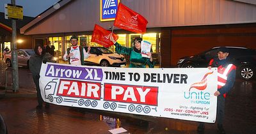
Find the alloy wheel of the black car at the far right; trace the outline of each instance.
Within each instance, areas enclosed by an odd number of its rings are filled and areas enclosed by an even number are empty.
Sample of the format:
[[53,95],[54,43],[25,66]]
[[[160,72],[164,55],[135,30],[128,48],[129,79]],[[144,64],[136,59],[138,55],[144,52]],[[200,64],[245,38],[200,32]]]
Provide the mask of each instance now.
[[239,73],[244,80],[252,80],[255,75],[255,71],[250,66],[241,66]]

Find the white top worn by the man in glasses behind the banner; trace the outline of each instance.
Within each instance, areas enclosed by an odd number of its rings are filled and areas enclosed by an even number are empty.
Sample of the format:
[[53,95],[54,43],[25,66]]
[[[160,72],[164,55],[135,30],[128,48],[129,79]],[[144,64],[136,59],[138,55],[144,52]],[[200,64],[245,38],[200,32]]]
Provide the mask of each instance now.
[[[80,54],[80,50],[79,50],[79,47],[77,48],[73,48],[71,47],[70,48],[70,53],[73,54],[73,56],[70,57],[70,64],[73,64],[73,65],[81,65],[81,54]],[[83,48],[83,53],[84,53],[84,59],[87,59],[89,57],[89,54],[88,52],[86,52],[86,50]],[[67,58],[67,51],[65,52],[64,56],[63,56],[63,60],[64,61],[67,61],[68,58]]]

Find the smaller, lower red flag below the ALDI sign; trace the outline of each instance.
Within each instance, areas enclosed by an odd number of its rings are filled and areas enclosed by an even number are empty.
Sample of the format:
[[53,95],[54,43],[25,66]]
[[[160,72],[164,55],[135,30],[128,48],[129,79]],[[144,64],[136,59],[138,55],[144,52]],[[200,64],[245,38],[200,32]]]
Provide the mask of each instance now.
[[99,43],[104,47],[110,47],[111,45],[114,45],[113,42],[110,40],[111,34],[114,40],[118,39],[118,35],[111,33],[111,31],[108,31],[103,27],[100,27],[99,25],[95,24],[91,42]]

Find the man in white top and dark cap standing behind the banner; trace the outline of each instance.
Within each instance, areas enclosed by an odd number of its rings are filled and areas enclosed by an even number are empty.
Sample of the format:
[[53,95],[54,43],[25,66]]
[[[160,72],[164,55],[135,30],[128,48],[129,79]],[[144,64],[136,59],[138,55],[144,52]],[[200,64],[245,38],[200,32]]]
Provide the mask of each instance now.
[[74,35],[71,36],[70,41],[72,46],[67,48],[63,60],[73,65],[84,65],[84,59],[89,57],[91,47],[88,47],[88,51],[86,52],[83,47],[77,45],[78,38]]

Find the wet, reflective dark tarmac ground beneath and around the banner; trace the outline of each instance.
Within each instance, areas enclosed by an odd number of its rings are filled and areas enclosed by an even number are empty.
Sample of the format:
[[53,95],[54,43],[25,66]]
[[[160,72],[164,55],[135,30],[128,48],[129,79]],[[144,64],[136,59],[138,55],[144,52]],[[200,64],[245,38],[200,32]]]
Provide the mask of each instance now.
[[[3,67],[3,66],[1,66]],[[3,82],[1,73],[0,82]],[[27,68],[19,68],[20,93],[35,91]],[[34,92],[35,93],[35,92]],[[19,94],[19,93],[18,93]],[[224,128],[230,134],[256,134],[256,80],[237,78],[225,103]],[[124,128],[127,133],[196,133],[198,123],[51,105],[36,109],[35,96],[0,98],[0,113],[8,133],[109,133]],[[205,133],[218,133],[216,124],[205,124]]]

